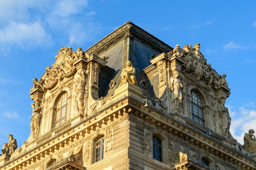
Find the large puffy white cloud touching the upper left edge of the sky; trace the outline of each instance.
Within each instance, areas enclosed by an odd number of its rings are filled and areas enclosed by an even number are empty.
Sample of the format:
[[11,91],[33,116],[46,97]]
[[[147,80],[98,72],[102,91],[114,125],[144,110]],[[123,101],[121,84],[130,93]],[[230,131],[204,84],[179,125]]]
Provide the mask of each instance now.
[[19,45],[22,48],[51,42],[51,36],[39,22],[29,24],[10,22],[9,25],[0,29],[0,37],[1,44]]

